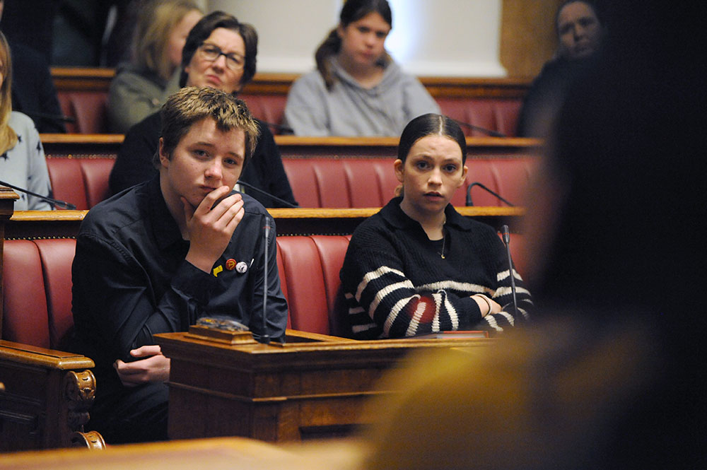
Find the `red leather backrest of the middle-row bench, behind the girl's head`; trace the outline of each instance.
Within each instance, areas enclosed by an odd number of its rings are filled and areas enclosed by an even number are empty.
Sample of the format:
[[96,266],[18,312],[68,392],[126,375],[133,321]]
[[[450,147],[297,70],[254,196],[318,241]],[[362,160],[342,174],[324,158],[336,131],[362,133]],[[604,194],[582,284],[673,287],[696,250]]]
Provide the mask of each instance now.
[[[285,172],[301,207],[381,207],[393,196],[398,181],[393,158],[284,158]],[[457,189],[452,204],[466,204],[467,187],[481,182],[516,205],[536,158],[467,158],[467,180]],[[89,209],[109,195],[108,177],[115,160],[110,157],[47,158],[54,197]],[[474,206],[505,206],[479,187],[472,188]]]

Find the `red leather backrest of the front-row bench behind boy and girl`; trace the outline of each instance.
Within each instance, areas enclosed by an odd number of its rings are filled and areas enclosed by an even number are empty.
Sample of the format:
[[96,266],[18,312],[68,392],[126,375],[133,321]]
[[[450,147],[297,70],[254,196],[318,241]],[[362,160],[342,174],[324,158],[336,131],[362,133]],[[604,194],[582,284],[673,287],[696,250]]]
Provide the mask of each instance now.
[[[288,301],[288,327],[347,336],[339,270],[350,235],[277,237],[277,264]],[[511,252],[525,270],[522,236],[512,234]],[[71,262],[74,239],[6,240],[3,270],[2,339],[62,349],[74,324]]]

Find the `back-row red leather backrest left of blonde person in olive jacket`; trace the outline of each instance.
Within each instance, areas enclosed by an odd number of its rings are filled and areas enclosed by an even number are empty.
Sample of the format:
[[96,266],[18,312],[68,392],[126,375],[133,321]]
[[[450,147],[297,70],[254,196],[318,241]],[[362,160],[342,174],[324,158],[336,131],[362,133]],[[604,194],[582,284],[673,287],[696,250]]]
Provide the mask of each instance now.
[[57,92],[59,105],[67,117],[76,119],[66,122],[66,131],[78,134],[107,134],[108,94],[105,91]]

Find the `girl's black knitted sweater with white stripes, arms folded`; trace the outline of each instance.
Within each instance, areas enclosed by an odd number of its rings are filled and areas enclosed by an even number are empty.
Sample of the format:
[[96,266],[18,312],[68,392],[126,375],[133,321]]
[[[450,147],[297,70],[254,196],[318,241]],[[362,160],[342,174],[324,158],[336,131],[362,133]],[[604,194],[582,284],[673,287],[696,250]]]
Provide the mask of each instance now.
[[[528,318],[530,293],[515,276],[519,318],[513,316],[506,247],[493,228],[445,208],[445,242],[431,241],[392,199],[356,228],[339,276],[349,322],[358,339],[434,331],[484,329],[492,334]],[[440,256],[444,245],[445,259]],[[481,317],[482,293],[503,311]]]

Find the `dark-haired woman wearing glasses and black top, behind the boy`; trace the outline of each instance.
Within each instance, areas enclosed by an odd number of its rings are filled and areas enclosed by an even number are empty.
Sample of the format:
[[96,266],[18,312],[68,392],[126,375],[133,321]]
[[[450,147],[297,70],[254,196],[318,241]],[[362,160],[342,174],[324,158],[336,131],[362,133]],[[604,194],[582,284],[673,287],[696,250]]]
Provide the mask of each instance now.
[[[223,11],[209,13],[187,36],[182,49],[180,86],[209,86],[238,94],[255,75],[257,44],[258,36],[251,25],[240,23]],[[258,121],[258,127],[260,136],[255,153],[240,180],[296,205],[272,133],[263,122]],[[158,149],[160,129],[162,118],[156,112],[128,131],[110,173],[113,194],[157,175],[151,162]],[[287,205],[259,192],[250,195],[265,207]]]

